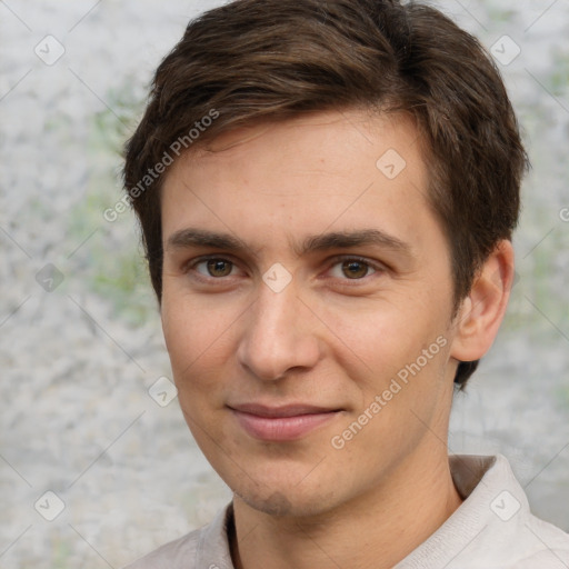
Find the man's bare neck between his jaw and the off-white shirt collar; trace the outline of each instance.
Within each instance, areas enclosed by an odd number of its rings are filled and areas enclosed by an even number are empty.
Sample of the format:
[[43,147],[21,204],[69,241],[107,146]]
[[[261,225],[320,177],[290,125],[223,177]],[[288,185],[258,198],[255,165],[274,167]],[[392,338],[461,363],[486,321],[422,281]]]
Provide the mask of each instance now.
[[236,496],[231,538],[236,568],[392,568],[462,501],[447,449],[428,450],[401,463],[380,488],[308,519],[271,516]]

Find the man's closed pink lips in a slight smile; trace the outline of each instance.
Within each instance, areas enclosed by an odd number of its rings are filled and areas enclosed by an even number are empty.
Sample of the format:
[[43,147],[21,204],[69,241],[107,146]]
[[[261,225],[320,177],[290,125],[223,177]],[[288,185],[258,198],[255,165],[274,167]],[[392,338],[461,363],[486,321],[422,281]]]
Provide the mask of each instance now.
[[249,436],[274,442],[298,440],[341,412],[311,405],[268,407],[246,403],[229,408]]

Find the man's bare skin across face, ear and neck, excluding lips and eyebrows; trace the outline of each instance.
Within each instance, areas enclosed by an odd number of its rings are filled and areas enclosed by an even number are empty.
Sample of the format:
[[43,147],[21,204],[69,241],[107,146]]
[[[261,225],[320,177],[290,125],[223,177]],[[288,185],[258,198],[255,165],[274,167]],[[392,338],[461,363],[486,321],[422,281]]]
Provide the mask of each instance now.
[[[407,163],[393,179],[376,166],[389,149]],[[427,187],[413,123],[356,109],[222,134],[167,174],[163,331],[188,426],[234,493],[238,568],[390,568],[461,503],[446,443],[452,380],[492,343],[513,257],[500,242],[453,317]],[[247,246],[191,244],[189,228]],[[299,254],[308,236],[362,229],[406,247]],[[218,259],[213,274],[202,256]],[[343,262],[355,256],[363,261]],[[291,277],[279,292],[262,278],[274,263]],[[438,353],[335,448],[438,338]],[[243,402],[339,411],[297,440],[266,441],[230,409]]]

